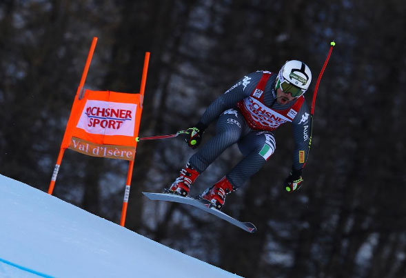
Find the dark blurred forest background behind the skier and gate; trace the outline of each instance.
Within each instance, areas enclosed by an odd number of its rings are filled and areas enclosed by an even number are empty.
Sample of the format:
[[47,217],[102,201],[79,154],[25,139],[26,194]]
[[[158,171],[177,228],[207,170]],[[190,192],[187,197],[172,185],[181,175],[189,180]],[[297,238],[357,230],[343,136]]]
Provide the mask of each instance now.
[[[139,143],[126,227],[244,277],[405,277],[405,15],[403,0],[3,0],[0,174],[48,190],[92,37],[85,88],[138,92],[151,52],[141,136],[192,126],[247,72],[277,72],[288,59],[312,69],[309,103],[334,40],[301,190],[282,186],[287,124],[265,167],[227,197],[224,211],[256,234],[141,195],[161,192],[192,155],[179,138]],[[238,159],[227,150],[192,194]],[[68,150],[54,195],[119,223],[127,167]]]

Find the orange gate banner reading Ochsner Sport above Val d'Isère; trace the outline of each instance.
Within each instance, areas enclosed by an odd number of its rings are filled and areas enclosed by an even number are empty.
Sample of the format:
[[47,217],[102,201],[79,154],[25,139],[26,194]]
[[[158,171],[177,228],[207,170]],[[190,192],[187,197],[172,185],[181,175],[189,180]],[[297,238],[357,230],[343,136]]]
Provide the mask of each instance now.
[[85,90],[83,98],[73,103],[62,148],[94,157],[134,160],[140,96]]

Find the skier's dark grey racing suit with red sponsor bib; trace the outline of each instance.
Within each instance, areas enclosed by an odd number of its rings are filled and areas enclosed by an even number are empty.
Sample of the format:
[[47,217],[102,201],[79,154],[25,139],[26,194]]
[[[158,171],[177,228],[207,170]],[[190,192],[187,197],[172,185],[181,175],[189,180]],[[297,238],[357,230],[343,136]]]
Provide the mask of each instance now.
[[288,121],[292,122],[295,142],[293,168],[303,168],[309,152],[309,108],[304,97],[278,104],[276,76],[266,71],[245,75],[205,110],[200,119],[203,125],[218,120],[216,135],[189,160],[198,172],[203,172],[226,148],[238,143],[244,158],[226,177],[235,188],[243,186],[274,153],[276,141],[272,131]]

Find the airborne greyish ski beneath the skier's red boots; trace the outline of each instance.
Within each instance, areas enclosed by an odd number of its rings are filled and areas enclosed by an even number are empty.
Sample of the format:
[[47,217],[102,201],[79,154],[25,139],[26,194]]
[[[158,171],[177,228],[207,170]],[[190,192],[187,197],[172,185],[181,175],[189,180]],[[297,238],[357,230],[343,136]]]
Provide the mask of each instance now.
[[145,195],[146,197],[148,197],[148,199],[150,199],[152,201],[173,201],[176,203],[185,203],[187,205],[191,205],[196,208],[200,208],[201,210],[204,210],[205,212],[209,212],[212,215],[216,215],[216,217],[219,217],[247,232],[256,232],[256,227],[254,226],[254,224],[252,224],[250,222],[238,221],[237,219],[230,217],[230,215],[226,215],[224,212],[221,212],[220,210],[216,210],[216,208],[212,208],[212,203],[210,203],[210,201],[207,201],[205,199],[199,200],[199,199],[194,199],[194,198],[190,198],[190,197],[182,197],[182,196],[170,194],[170,193],[143,192],[143,195]]

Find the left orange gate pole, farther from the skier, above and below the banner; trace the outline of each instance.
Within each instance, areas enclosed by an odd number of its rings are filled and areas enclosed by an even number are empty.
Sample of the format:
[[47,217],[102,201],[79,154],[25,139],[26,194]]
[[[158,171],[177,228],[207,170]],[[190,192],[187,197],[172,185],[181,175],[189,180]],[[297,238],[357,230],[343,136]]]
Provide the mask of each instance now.
[[[88,76],[90,62],[92,61],[94,48],[96,48],[96,43],[97,43],[97,37],[93,37],[92,45],[90,46],[90,50],[89,50],[89,54],[88,54],[88,59],[86,59],[85,68],[83,68],[81,81],[79,83],[79,86],[78,86],[77,92],[76,92],[76,95],[79,95],[79,93],[80,93],[79,99],[81,99],[83,97],[83,86],[85,86],[85,80],[86,80],[86,77]],[[75,99],[75,101],[76,101],[76,99]],[[68,130],[65,130],[65,135],[66,135],[66,132],[68,132]],[[65,148],[61,147],[61,149],[59,150],[57,163],[55,164],[54,172],[52,173],[50,187],[48,188],[48,194],[50,194],[50,195],[52,195],[52,192],[54,191],[55,182],[57,181],[57,176],[58,176],[59,168],[61,167],[64,152],[65,152]]]

